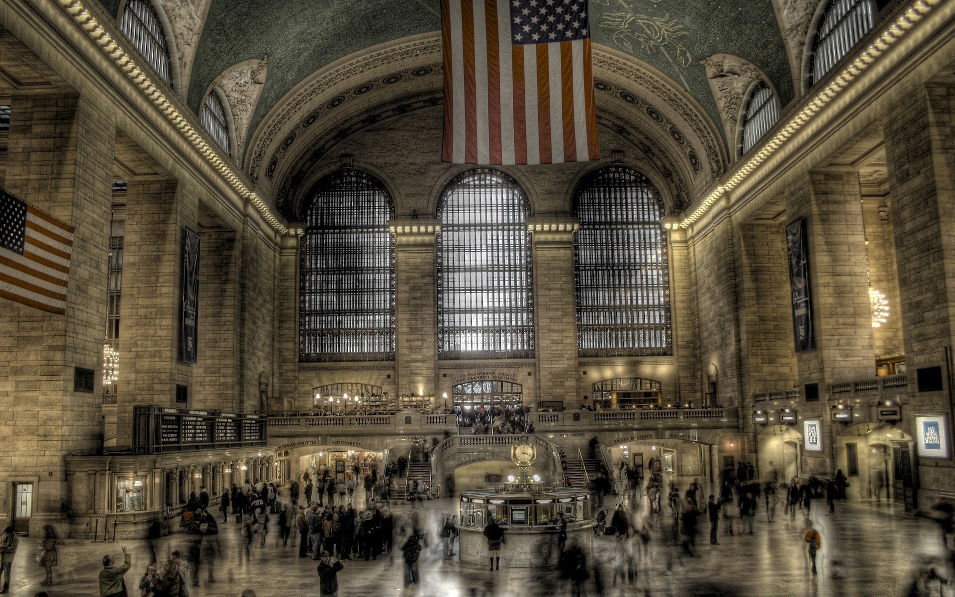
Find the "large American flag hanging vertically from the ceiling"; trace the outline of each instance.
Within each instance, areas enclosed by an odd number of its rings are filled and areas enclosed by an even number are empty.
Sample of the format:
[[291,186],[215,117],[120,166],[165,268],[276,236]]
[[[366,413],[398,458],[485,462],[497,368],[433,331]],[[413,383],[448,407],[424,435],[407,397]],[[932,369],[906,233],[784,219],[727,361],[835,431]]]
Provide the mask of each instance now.
[[586,0],[441,0],[442,161],[600,158]]

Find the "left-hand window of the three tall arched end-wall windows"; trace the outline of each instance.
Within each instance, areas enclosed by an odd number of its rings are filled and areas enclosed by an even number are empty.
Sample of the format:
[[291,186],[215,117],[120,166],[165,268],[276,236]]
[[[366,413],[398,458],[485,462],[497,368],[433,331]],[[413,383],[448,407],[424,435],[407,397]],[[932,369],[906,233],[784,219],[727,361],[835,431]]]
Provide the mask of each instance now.
[[384,186],[342,171],[315,186],[303,210],[299,359],[394,358],[394,217]]

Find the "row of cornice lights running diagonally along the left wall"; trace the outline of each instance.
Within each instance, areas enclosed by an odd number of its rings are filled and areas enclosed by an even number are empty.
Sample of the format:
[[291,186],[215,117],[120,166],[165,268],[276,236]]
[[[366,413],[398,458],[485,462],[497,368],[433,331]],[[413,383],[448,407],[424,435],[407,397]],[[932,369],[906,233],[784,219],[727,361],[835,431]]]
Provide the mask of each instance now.
[[246,186],[242,179],[236,175],[232,167],[219,157],[218,152],[209,145],[209,143],[206,143],[205,139],[202,139],[202,134],[182,116],[176,106],[169,101],[150,77],[146,75],[145,70],[137,66],[129,53],[126,53],[123,47],[117,42],[117,39],[110,32],[103,29],[103,26],[99,24],[96,17],[83,6],[81,0],[58,0],[58,3],[63,10],[73,18],[79,28],[83,30],[83,32],[86,32],[87,36],[96,43],[99,50],[116,63],[119,70],[121,70],[126,77],[139,88],[139,91],[159,109],[159,112],[179,130],[182,137],[188,140],[192,146],[202,154],[202,157],[229,183],[233,190],[255,205],[255,208],[262,214],[262,217],[273,229],[280,234],[290,233],[288,227],[282,224],[275,216],[275,213],[268,203],[265,203],[265,201],[259,197],[258,193]]

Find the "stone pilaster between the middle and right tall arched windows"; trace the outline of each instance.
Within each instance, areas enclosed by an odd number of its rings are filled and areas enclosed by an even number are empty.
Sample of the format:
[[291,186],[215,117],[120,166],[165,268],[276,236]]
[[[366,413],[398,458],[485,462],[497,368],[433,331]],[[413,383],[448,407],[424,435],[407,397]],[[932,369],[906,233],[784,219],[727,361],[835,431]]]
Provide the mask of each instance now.
[[579,405],[577,395],[577,307],[574,294],[574,233],[577,218],[530,218],[534,255],[535,347],[538,395],[524,394],[536,406],[541,400]]

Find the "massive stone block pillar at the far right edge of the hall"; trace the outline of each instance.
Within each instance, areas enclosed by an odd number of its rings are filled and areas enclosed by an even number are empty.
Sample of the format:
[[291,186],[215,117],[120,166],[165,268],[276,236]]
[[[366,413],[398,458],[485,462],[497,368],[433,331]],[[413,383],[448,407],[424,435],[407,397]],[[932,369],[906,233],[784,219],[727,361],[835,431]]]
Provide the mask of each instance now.
[[[947,413],[950,360],[955,344],[955,100],[952,86],[930,83],[893,97],[882,117],[895,235],[909,413]],[[940,367],[942,392],[919,392],[917,371]],[[904,431],[914,433],[908,418]],[[949,423],[951,424],[951,423]],[[919,466],[918,501],[955,494],[951,460]]]

